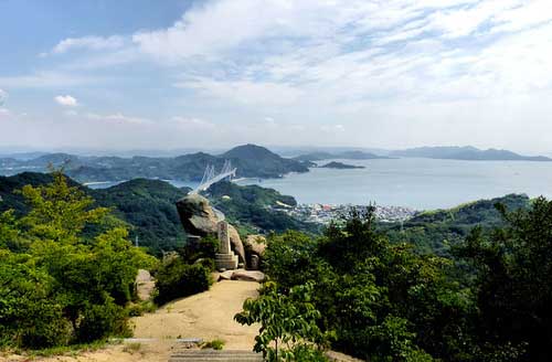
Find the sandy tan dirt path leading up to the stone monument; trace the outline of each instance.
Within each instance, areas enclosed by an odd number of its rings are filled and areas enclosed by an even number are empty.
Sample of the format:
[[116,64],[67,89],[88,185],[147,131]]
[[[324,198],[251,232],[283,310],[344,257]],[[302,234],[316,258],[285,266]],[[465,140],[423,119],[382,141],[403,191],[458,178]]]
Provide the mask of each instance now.
[[[176,338],[221,339],[224,349],[251,350],[258,326],[244,327],[234,321],[245,299],[257,296],[257,283],[223,280],[209,291],[167,304],[155,313],[132,318],[135,338],[152,339],[132,344],[108,345],[105,349],[79,352],[76,355],[56,355],[30,359],[24,355],[0,355],[6,361],[43,362],[135,362],[168,361]],[[131,348],[135,347],[135,348]]]

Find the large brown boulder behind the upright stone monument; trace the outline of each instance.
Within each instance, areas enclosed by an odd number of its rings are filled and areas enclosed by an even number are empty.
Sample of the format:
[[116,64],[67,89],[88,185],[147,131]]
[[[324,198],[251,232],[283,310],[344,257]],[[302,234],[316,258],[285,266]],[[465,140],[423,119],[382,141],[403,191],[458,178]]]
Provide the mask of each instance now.
[[[180,222],[190,235],[208,236],[217,234],[221,216],[211,207],[209,200],[200,194],[189,194],[177,201]],[[245,263],[245,251],[240,234],[234,226],[229,225],[230,243],[237,254],[240,263]]]

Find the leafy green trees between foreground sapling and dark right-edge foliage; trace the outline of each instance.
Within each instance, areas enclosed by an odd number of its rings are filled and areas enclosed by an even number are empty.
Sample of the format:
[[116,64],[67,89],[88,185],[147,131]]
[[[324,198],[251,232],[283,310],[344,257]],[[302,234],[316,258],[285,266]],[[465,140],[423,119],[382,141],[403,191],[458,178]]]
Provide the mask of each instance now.
[[333,348],[370,361],[465,361],[471,295],[449,277],[449,260],[391,244],[373,210],[318,241],[272,236],[265,260],[280,292],[314,286],[318,326],[336,332]]

